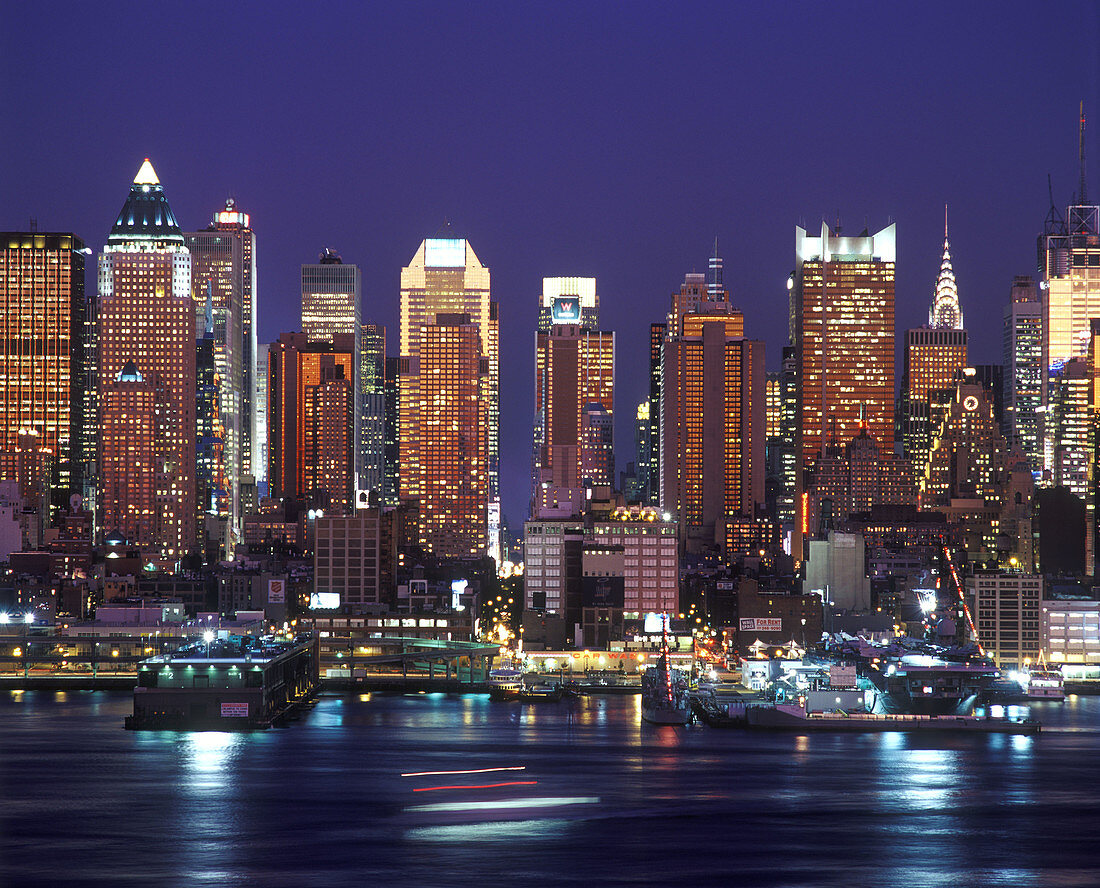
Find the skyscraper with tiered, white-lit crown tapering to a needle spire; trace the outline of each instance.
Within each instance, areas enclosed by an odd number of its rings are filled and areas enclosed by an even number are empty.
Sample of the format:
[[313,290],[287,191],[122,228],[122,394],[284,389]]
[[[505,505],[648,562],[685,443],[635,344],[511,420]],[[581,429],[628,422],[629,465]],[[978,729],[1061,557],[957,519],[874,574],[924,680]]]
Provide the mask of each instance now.
[[953,388],[966,365],[967,333],[952,268],[945,208],[944,255],[928,309],[928,326],[905,331],[899,419],[902,449],[919,475],[924,473],[932,436],[943,418],[931,393]]

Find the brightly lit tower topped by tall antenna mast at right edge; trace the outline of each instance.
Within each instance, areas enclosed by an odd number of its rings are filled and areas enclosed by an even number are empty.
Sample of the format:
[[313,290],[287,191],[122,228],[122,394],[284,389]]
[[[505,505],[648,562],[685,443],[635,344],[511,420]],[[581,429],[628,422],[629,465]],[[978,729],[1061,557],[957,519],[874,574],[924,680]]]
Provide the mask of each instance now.
[[[1100,207],[1088,201],[1085,177],[1085,112],[1078,130],[1080,185],[1063,220],[1053,206],[1038,238],[1043,297],[1043,406],[1056,410],[1049,373],[1072,358],[1085,358],[1089,326],[1100,318]],[[1044,429],[1044,469],[1054,470],[1054,430]]]

